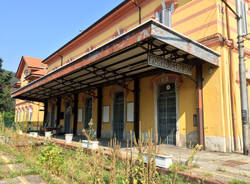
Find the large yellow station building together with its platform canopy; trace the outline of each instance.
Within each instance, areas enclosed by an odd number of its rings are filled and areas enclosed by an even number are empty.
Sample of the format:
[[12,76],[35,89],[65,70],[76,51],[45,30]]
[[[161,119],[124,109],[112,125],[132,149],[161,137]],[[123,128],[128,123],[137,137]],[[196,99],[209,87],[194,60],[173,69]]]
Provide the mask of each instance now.
[[46,74],[12,97],[43,103],[44,125],[65,133],[92,119],[98,138],[152,132],[164,144],[242,151],[236,40],[221,0],[126,0],[42,60]]

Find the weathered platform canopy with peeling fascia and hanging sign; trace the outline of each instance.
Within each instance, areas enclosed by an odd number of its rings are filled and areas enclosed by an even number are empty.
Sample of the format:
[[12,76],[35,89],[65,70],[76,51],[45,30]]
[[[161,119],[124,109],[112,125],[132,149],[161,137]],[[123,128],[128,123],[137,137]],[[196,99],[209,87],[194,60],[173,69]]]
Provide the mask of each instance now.
[[219,66],[219,54],[186,36],[149,20],[110,42],[19,88],[13,98],[46,101],[87,92],[140,75],[168,70],[191,75],[199,63]]

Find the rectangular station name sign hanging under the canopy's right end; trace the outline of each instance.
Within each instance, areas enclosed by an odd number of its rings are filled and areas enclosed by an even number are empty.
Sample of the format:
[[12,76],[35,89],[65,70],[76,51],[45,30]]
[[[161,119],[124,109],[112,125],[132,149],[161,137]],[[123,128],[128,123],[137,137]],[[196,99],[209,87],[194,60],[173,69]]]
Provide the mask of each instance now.
[[171,59],[165,59],[163,57],[153,54],[148,54],[148,65],[181,74],[192,75],[192,65],[185,63],[178,63],[172,61]]

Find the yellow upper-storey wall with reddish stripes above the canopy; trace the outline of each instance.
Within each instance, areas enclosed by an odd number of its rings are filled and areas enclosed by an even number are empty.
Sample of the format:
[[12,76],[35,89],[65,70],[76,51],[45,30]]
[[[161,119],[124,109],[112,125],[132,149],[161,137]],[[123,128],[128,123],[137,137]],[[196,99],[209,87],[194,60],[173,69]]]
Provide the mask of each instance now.
[[[155,17],[155,11],[161,6],[161,0],[146,0],[141,4],[142,22]],[[212,35],[218,32],[217,20],[217,1],[198,1],[198,0],[181,0],[179,6],[173,13],[172,22],[173,29],[179,31],[187,36],[198,40],[200,38]],[[212,7],[207,10],[207,7]],[[199,10],[202,13],[196,14]],[[105,24],[105,23],[104,23]],[[123,16],[114,15],[112,22],[106,23],[105,28],[96,28],[95,31],[87,33],[81,39],[75,41],[69,49],[64,49],[62,52],[63,64],[70,58],[75,60],[88,51],[90,46],[98,47],[109,40],[113,39],[117,28],[131,30],[138,25],[138,11],[137,8],[131,6]],[[187,26],[188,25],[188,26]],[[192,25],[192,26],[190,26]],[[195,25],[195,26],[194,26]],[[205,26],[204,26],[205,25]],[[101,26],[101,25],[100,25]],[[88,35],[88,36],[87,36]],[[50,61],[48,70],[51,71],[61,65],[61,58],[55,56]]]

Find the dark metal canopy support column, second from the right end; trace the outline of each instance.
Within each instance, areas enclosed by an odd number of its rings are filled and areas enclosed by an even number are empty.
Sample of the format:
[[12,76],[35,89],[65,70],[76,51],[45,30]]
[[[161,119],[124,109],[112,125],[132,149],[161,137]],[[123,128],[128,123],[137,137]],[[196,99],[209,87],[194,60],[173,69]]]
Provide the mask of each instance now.
[[134,79],[134,132],[136,140],[140,132],[140,80]]

